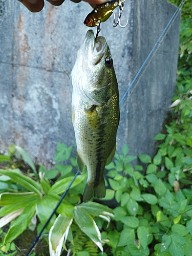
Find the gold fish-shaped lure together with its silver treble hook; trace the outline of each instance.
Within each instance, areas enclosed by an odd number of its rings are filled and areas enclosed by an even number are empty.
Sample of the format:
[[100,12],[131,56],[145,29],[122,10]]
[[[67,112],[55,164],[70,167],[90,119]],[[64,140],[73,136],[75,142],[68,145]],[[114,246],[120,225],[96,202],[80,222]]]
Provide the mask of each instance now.
[[123,11],[125,0],[110,0],[109,2],[103,3],[97,6],[92,12],[90,12],[86,19],[84,20],[84,25],[88,27],[95,27],[100,25],[101,22],[105,22],[113,13],[113,10],[119,6],[119,17],[117,23],[115,22],[115,15],[113,26],[116,27],[118,24],[120,27],[126,27],[128,24],[128,20],[125,26],[120,24],[120,18]]

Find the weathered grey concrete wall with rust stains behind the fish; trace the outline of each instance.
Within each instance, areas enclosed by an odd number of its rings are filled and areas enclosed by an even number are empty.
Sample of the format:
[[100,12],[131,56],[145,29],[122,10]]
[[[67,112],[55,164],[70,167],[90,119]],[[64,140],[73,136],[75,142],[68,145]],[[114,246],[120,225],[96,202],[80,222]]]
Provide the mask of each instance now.
[[[92,8],[68,0],[45,3],[40,13],[7,0],[0,15],[0,150],[14,142],[38,162],[49,165],[56,142],[74,145],[69,77],[77,50],[89,28],[83,20]],[[175,12],[165,0],[126,1],[122,24],[113,17],[101,24],[119,82],[120,98]],[[118,10],[116,10],[118,12]],[[117,150],[155,153],[153,137],[161,131],[175,90],[180,14],[158,47],[143,76],[121,106]],[[96,31],[96,29],[94,29]],[[62,67],[62,69],[61,69]]]

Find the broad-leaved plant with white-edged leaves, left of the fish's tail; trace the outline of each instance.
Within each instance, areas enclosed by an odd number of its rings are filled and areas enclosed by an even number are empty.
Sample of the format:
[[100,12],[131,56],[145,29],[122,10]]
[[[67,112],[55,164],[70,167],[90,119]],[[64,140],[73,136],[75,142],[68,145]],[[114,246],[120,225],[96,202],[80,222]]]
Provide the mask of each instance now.
[[[28,153],[23,148],[17,146],[14,148],[22,155],[25,162],[31,167],[32,172],[34,172],[36,167]],[[57,150],[56,160],[63,161],[64,159],[68,160],[70,158],[71,147],[68,148],[66,145],[58,143]],[[7,160],[7,158],[4,159]],[[8,160],[11,161],[10,159]],[[76,161],[73,158],[71,158],[71,162],[77,168]],[[32,224],[32,219],[36,219],[36,216],[39,222],[36,227],[37,232],[45,225],[60,196],[67,189],[74,177],[72,165],[55,164],[56,169],[51,169],[51,173],[55,172],[56,176],[59,174],[60,177],[58,176],[53,185],[50,178],[55,178],[55,176],[50,175],[50,170],[46,170],[43,165],[38,169],[37,180],[30,174],[23,174],[18,168],[0,168],[0,177],[4,177],[5,181],[8,180],[10,183],[19,185],[16,192],[14,191],[12,193],[7,189],[6,193],[0,195],[0,206],[2,206],[0,208],[0,217],[2,217],[0,219],[0,227],[5,226],[11,221],[10,227],[2,241],[3,249],[4,247],[8,248],[8,245],[19,234],[23,233],[27,227],[34,230],[35,224]],[[62,246],[66,248],[65,242],[67,238],[73,244],[74,231],[71,228],[72,223],[75,231],[78,230],[78,232],[80,231],[86,235],[86,242],[83,243],[83,249],[87,250],[89,255],[94,256],[98,248],[103,251],[101,233],[94,218],[97,217],[97,222],[101,218],[100,223],[102,224],[103,222],[110,223],[110,217],[114,216],[114,214],[112,209],[98,203],[89,202],[87,204],[79,204],[87,180],[86,176],[86,174],[83,174],[76,177],[65,200],[62,200],[44,231],[44,233],[49,232],[51,256],[58,255],[61,252]],[[94,244],[97,245],[97,249],[95,249]],[[75,248],[74,246],[72,249]],[[8,249],[6,250],[8,251]],[[76,253],[76,249],[74,250],[75,252],[73,254]],[[76,254],[78,255],[79,253]]]

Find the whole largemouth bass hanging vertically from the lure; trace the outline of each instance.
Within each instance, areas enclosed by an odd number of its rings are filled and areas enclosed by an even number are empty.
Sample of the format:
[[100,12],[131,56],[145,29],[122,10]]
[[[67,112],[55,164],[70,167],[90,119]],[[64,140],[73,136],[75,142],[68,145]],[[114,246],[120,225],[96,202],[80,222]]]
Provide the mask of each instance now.
[[83,202],[105,197],[104,168],[113,160],[119,124],[119,91],[113,59],[103,36],[89,30],[71,71],[72,123],[77,164],[88,178]]

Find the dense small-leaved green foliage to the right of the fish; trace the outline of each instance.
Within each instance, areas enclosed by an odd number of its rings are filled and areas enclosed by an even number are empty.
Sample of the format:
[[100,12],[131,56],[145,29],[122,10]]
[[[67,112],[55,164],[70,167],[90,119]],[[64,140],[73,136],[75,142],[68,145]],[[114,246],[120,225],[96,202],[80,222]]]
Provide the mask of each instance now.
[[[167,129],[170,132],[169,126]],[[116,228],[105,229],[105,239],[110,241],[110,233],[116,231],[118,241],[115,248],[112,241],[106,242],[111,247],[108,255],[118,255],[120,250],[125,255],[133,256],[184,256],[191,253],[188,243],[192,240],[192,186],[188,186],[191,178],[184,168],[191,164],[189,160],[192,156],[186,160],[184,153],[176,151],[178,146],[181,147],[180,142],[175,141],[170,134],[155,138],[164,138],[157,155],[153,159],[147,155],[138,156],[142,163],[148,163],[145,175],[138,172],[138,165],[134,169],[124,154],[115,155],[115,164],[108,168],[107,175],[115,181],[109,179],[109,184],[115,191],[114,198],[120,204],[114,209],[115,216],[112,217]],[[185,144],[182,151],[189,154],[191,148]],[[176,182],[185,188],[179,189]]]

